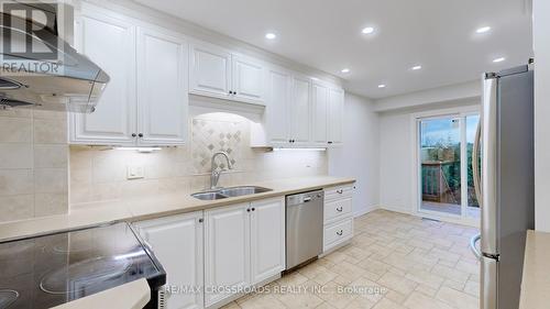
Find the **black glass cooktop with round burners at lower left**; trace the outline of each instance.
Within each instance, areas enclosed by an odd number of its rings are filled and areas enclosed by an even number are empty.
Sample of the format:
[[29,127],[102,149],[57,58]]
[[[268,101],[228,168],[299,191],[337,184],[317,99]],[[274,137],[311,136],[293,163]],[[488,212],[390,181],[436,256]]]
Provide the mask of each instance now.
[[0,243],[0,309],[50,308],[129,282],[165,284],[127,223]]

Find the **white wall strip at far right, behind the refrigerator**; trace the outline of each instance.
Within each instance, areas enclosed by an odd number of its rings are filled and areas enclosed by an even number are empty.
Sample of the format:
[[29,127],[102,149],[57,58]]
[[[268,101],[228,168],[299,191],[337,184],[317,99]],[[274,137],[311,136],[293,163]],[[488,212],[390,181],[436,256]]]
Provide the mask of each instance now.
[[534,0],[535,49],[535,219],[550,232],[550,1]]

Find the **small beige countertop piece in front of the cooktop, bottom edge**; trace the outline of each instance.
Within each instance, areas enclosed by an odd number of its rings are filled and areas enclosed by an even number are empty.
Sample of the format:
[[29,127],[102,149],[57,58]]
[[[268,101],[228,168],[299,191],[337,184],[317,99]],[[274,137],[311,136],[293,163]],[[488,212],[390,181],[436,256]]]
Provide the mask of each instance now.
[[139,279],[54,307],[54,309],[141,309],[151,300],[146,279]]

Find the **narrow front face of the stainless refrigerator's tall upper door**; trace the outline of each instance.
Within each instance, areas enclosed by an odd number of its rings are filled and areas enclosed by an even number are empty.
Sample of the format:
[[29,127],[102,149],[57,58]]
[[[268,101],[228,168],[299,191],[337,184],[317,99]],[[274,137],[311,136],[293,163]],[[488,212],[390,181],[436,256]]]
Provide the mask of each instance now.
[[485,78],[482,110],[482,222],[481,251],[497,255],[497,84],[498,78]]

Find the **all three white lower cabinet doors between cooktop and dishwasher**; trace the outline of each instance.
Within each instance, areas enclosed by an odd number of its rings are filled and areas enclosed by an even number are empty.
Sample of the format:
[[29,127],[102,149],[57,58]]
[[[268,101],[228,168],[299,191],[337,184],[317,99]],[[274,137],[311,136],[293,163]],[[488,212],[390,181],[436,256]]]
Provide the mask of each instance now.
[[284,197],[134,222],[166,271],[167,308],[217,308],[285,269]]

